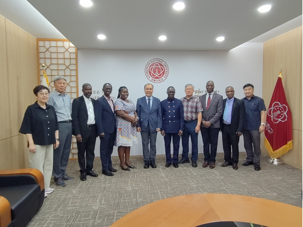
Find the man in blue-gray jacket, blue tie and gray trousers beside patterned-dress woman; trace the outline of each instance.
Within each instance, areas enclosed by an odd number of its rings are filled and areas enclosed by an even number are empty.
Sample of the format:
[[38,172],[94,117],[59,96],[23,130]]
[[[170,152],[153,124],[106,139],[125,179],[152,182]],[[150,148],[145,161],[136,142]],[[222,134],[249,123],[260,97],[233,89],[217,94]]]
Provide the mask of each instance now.
[[154,85],[145,84],[144,92],[145,96],[137,100],[136,111],[139,117],[137,131],[141,132],[144,168],[149,168],[149,165],[157,168],[156,139],[162,127],[161,102],[153,96]]

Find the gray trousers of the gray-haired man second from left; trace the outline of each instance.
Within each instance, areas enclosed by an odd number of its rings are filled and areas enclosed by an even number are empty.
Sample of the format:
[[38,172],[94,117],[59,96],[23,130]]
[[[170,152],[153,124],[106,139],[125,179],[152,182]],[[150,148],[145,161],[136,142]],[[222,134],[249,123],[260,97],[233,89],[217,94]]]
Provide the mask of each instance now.
[[54,149],[53,175],[54,179],[66,174],[69,159],[70,145],[72,143],[72,123],[59,123],[59,147]]

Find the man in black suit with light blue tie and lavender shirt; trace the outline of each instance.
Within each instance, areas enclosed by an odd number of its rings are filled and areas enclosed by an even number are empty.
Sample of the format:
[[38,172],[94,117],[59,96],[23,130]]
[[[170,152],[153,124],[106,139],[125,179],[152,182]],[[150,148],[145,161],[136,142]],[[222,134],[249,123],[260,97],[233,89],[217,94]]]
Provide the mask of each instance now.
[[[225,89],[227,98],[223,99],[223,114],[221,115],[221,132],[225,162],[222,167],[233,166],[238,169],[239,138],[243,133],[245,105],[243,100],[234,97],[234,88]],[[233,157],[231,157],[231,148]]]

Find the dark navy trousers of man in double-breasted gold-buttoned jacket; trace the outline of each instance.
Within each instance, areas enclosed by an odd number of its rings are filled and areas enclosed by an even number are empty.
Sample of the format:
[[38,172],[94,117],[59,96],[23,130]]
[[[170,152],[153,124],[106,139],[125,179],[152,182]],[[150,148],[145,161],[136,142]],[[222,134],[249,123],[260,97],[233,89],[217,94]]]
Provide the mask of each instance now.
[[[171,155],[171,142],[174,148],[173,155]],[[180,136],[178,135],[178,133],[165,133],[164,144],[165,144],[166,162],[178,163],[179,148],[180,148]]]

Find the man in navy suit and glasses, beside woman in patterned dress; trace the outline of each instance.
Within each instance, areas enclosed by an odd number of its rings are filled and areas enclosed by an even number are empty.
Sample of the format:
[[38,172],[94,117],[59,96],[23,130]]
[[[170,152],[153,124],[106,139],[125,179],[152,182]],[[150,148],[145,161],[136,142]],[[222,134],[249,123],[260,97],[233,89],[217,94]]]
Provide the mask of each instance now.
[[112,172],[117,172],[112,167],[111,155],[113,153],[114,141],[116,137],[116,116],[114,111],[114,101],[110,97],[113,87],[111,84],[103,85],[103,93],[95,103],[95,118],[100,137],[100,159],[102,163],[102,174],[114,176]]

